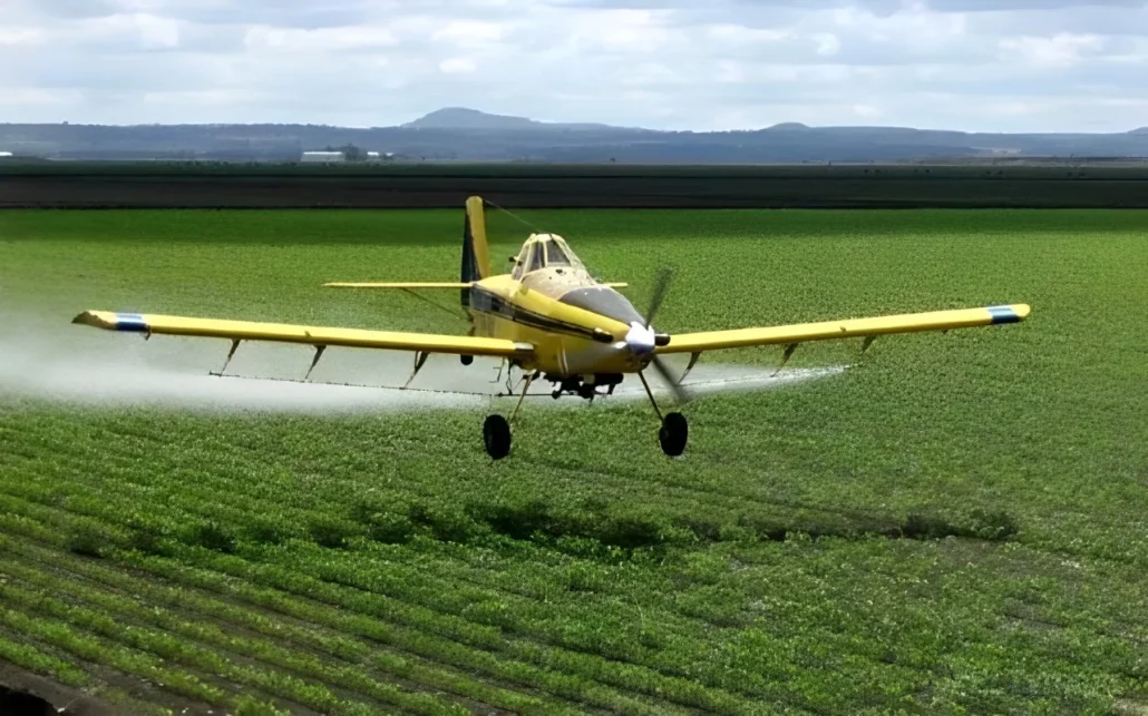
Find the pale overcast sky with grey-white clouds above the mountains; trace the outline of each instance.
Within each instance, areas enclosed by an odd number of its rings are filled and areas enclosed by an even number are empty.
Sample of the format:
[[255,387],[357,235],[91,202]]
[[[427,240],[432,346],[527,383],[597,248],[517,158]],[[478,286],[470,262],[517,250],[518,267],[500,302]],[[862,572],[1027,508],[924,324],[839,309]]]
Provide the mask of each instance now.
[[1148,0],[0,0],[0,122],[1148,125]]

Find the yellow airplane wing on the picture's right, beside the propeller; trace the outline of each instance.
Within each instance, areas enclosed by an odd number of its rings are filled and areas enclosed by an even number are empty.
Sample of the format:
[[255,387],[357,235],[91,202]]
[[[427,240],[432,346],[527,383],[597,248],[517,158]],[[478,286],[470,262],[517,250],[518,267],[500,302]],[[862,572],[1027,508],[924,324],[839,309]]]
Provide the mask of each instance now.
[[949,330],[974,326],[1015,324],[1027,318],[1027,304],[990,306],[985,309],[957,309],[928,313],[905,313],[878,318],[852,318],[816,324],[796,324],[769,328],[735,328],[732,330],[709,330],[706,333],[680,333],[670,335],[667,345],[658,347],[658,353],[700,353],[727,348],[751,345],[778,345],[886,335],[892,333],[916,333],[920,330]]

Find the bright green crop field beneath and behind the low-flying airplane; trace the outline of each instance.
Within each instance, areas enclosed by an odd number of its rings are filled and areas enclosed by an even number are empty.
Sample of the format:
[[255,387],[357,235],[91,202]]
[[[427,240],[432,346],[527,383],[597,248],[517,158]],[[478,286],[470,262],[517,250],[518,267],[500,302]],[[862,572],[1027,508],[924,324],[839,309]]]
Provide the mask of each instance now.
[[669,332],[1033,312],[802,345],[851,367],[699,397],[683,459],[649,404],[545,398],[491,462],[484,406],[189,408],[225,341],[69,324],[463,332],[319,288],[456,280],[460,210],[0,212],[0,662],[141,711],[1148,711],[1148,212],[521,213],[639,310],[676,264]]

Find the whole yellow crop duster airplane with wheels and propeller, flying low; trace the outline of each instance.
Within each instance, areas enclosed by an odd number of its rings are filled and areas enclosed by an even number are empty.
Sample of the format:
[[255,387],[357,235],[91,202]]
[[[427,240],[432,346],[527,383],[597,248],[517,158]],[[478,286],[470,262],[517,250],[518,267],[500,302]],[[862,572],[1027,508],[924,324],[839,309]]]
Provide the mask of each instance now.
[[[566,241],[557,234],[530,234],[518,256],[511,258],[513,270],[509,274],[495,274],[490,268],[487,247],[484,204],[478,196],[466,201],[461,280],[458,282],[325,283],[335,287],[406,290],[457,289],[471,320],[467,335],[111,311],[85,311],[72,322],[109,330],[142,333],[146,336],[155,333],[231,338],[228,361],[241,341],[304,343],[317,349],[311,363],[312,369],[323,351],[332,345],[413,351],[414,374],[430,353],[458,355],[463,365],[470,365],[474,356],[498,357],[511,367],[521,369],[525,376],[522,394],[511,420],[518,414],[530,383],[538,378],[556,386],[552,394],[556,398],[577,395],[592,400],[597,395],[612,394],[625,375],[637,374],[661,420],[659,439],[662,451],[668,456],[678,456],[685,450],[688,425],[680,412],[662,415],[643,374],[651,365],[682,398],[682,379],[706,351],[784,345],[784,365],[797,345],[806,341],[863,337],[864,350],[878,335],[1013,324],[1025,319],[1030,311],[1025,304],[1014,304],[669,335],[658,333],[652,326],[669,285],[668,272],[659,274],[645,316],[614,290],[626,286],[625,283],[600,283],[595,280]],[[660,356],[667,353],[690,353],[690,363],[677,379],[669,376],[660,359]],[[501,459],[510,453],[510,422],[502,415],[487,417],[482,436],[490,457]]]

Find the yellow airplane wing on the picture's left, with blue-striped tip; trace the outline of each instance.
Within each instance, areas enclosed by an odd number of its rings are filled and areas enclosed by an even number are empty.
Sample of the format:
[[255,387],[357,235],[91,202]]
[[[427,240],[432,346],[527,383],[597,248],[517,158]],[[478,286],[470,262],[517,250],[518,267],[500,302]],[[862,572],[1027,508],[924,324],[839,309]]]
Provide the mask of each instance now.
[[364,330],[360,328],[332,328],[326,326],[293,326],[289,324],[186,318],[152,313],[85,311],[72,319],[72,322],[94,326],[106,330],[125,330],[148,335],[157,333],[231,338],[233,341],[276,341],[281,343],[304,343],[315,347],[377,348],[420,351],[424,353],[456,353],[461,356],[495,356],[502,358],[523,358],[534,352],[534,345],[530,343],[518,343],[501,338],[433,333]]

